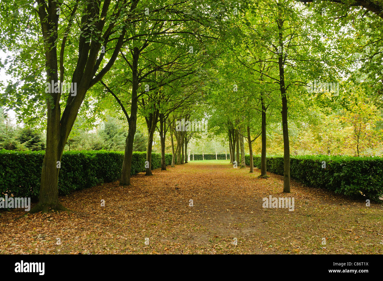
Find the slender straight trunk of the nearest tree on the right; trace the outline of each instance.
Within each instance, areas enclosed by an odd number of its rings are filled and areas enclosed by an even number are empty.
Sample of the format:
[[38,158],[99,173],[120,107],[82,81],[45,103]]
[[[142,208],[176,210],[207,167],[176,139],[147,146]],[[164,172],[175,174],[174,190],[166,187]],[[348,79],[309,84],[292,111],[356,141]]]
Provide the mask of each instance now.
[[279,42],[282,52],[278,56],[280,90],[282,96],[282,130],[283,130],[283,192],[290,192],[290,142],[287,124],[287,97],[285,88],[285,68],[283,65],[283,20],[278,19]]

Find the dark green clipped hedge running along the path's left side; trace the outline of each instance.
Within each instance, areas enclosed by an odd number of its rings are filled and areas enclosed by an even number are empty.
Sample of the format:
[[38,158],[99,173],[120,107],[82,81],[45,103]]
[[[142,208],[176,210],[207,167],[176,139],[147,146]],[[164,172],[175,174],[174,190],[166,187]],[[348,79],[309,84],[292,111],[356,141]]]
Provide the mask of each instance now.
[[[38,199],[41,169],[45,151],[0,150],[0,197]],[[61,158],[59,194],[85,189],[103,182],[116,181],[121,176],[123,152],[115,151],[65,151]],[[145,171],[146,152],[134,152],[131,174]],[[165,154],[167,165],[172,155]],[[152,169],[161,167],[161,155],[152,153]]]

